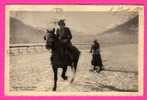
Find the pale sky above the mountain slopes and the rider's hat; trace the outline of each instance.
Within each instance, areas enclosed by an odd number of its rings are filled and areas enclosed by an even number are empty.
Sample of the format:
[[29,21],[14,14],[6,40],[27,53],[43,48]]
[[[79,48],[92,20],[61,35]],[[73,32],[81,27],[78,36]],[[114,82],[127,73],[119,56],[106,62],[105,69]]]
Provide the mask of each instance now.
[[54,27],[53,21],[56,19],[65,19],[66,26],[75,32],[99,34],[126,22],[135,14],[128,12],[13,11],[10,16],[27,25],[44,30]]

